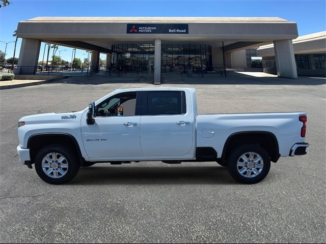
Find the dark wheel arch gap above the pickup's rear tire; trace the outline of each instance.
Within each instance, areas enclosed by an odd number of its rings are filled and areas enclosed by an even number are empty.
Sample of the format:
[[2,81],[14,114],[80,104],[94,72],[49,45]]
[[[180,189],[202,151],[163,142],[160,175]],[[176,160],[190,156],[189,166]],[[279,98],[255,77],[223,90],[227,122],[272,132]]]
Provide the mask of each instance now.
[[[250,136],[248,138],[248,136]],[[268,131],[241,131],[230,135],[223,147],[222,162],[224,162],[230,154],[230,149],[245,143],[259,144],[269,154],[272,162],[277,162],[280,158],[279,143],[277,137]]]

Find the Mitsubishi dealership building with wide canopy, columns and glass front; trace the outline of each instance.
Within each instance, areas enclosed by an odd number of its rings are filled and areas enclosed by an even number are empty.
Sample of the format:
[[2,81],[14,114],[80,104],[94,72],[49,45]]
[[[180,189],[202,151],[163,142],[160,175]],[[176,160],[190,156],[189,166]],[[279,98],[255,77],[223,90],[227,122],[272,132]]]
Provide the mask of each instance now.
[[19,74],[38,65],[41,42],[91,51],[93,71],[106,54],[107,69],[148,72],[156,84],[162,73],[225,70],[232,53],[271,44],[277,75],[297,78],[297,26],[277,17],[37,17],[19,22],[17,36]]

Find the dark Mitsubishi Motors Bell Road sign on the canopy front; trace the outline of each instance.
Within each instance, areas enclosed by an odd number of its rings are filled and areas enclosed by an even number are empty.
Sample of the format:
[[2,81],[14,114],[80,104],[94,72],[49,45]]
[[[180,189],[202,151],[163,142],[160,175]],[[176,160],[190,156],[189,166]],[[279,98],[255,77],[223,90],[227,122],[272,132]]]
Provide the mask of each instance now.
[[127,34],[188,34],[188,24],[127,24]]

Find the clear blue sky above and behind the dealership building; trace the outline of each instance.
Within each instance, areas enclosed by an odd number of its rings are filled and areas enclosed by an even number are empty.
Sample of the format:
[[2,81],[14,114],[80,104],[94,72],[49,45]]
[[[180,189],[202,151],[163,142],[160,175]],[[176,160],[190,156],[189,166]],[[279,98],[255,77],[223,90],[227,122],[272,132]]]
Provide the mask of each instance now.
[[[66,17],[280,17],[297,23],[299,36],[326,30],[326,1],[316,0],[10,0],[11,5],[0,8],[0,41],[15,41],[12,37],[19,21],[39,16]],[[0,42],[0,50],[6,44]],[[21,39],[18,39],[15,56],[19,55]],[[72,49],[60,47],[60,56],[70,61]],[[44,43],[41,45],[42,60]],[[7,45],[6,58],[12,57],[14,43]],[[57,52],[56,55],[59,53]],[[84,60],[86,51],[77,50],[76,57]],[[105,59],[105,55],[100,57]]]

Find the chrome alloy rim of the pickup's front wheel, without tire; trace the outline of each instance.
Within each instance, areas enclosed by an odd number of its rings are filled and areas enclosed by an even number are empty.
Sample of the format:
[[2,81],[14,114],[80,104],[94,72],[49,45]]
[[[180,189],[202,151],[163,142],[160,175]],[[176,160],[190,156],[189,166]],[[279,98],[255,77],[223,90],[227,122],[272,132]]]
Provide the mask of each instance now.
[[42,160],[42,169],[51,178],[61,178],[68,172],[68,161],[61,154],[49,153]]

